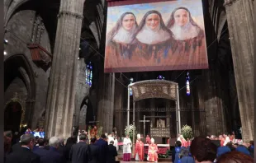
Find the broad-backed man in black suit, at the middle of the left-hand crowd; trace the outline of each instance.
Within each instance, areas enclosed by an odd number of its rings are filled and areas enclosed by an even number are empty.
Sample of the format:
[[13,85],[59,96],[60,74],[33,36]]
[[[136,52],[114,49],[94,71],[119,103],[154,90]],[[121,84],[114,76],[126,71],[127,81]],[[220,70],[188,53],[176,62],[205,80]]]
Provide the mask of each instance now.
[[71,147],[69,158],[71,158],[72,163],[88,163],[88,161],[92,160],[91,150],[86,143],[85,134],[79,135],[79,142]]

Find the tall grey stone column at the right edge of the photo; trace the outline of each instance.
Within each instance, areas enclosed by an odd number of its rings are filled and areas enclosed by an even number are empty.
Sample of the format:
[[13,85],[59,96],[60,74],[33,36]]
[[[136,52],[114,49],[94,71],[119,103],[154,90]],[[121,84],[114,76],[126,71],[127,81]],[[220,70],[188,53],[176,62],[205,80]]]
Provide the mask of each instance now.
[[254,1],[225,0],[244,141],[254,140]]

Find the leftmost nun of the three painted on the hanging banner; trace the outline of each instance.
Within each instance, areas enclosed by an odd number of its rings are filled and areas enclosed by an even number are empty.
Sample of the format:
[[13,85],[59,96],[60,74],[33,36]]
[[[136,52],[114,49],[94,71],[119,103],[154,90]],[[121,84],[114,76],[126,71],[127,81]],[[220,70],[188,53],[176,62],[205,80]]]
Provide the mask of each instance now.
[[138,24],[132,12],[125,12],[116,26],[107,35],[105,68],[121,67],[125,59],[130,59],[135,44],[133,35]]

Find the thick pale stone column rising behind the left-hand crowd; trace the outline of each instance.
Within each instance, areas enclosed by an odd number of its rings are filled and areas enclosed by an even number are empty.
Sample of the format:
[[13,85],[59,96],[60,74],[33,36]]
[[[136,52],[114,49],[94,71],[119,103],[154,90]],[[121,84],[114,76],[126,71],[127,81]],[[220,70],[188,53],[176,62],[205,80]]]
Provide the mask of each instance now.
[[84,0],[61,0],[46,105],[47,137],[70,137],[75,118],[78,51]]

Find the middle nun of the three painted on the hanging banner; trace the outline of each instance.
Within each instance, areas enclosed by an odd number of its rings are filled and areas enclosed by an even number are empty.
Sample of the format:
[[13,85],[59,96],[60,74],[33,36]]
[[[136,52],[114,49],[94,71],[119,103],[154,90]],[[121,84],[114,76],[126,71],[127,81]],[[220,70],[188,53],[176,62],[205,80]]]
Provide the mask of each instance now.
[[164,25],[161,13],[151,10],[140,21],[135,40],[135,60],[140,61],[140,65],[145,63],[145,66],[157,66],[161,58],[168,55],[173,33]]

